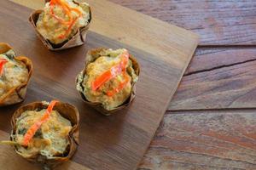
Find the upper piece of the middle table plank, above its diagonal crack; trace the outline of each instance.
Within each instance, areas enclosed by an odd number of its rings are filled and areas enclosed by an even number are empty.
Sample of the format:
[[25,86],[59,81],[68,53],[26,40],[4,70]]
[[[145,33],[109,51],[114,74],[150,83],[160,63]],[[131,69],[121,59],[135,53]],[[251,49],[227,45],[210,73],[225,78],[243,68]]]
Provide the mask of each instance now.
[[254,47],[197,48],[184,76],[221,67],[239,65],[256,59]]

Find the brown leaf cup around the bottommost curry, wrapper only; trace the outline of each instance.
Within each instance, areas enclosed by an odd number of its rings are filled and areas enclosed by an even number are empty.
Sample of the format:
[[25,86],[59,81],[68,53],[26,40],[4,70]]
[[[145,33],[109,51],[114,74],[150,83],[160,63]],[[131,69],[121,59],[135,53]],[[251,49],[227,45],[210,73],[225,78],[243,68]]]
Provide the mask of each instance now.
[[[17,120],[22,113],[24,113],[25,111],[41,111],[43,109],[47,109],[48,106],[49,104],[47,102],[34,102],[29,105],[21,106],[20,109],[15,111],[11,119],[11,125],[13,129],[10,136],[11,142],[14,142],[14,143],[17,142],[16,141]],[[60,115],[66,118],[69,122],[71,122],[71,125],[72,125],[72,128],[67,135],[67,139],[68,139],[67,148],[61,156],[59,155],[43,156],[41,152],[38,152],[38,154],[35,154],[32,156],[29,156],[19,151],[19,147],[25,147],[25,146],[21,146],[20,144],[14,144],[15,152],[18,155],[22,156],[27,161],[32,161],[36,164],[43,165],[45,169],[54,168],[57,165],[70,160],[79,145],[79,111],[77,110],[77,108],[73,105],[59,102],[59,103],[56,103],[56,105],[53,108],[53,111],[58,111]]]

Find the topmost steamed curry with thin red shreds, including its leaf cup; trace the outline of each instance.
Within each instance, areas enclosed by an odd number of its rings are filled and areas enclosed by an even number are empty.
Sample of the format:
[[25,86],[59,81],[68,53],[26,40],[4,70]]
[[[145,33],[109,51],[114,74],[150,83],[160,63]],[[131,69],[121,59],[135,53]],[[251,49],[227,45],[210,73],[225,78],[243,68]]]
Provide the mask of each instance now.
[[62,50],[84,44],[91,10],[75,0],[45,1],[44,10],[34,11],[29,21],[46,48]]

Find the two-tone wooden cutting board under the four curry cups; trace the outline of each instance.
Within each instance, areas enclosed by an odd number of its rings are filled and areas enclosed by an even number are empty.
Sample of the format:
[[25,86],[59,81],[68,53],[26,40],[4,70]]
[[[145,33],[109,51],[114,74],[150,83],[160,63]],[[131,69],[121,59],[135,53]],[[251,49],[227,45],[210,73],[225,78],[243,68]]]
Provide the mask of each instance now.
[[[42,8],[41,0],[13,0]],[[177,89],[199,38],[108,1],[89,0],[93,22],[87,43],[78,48],[51,52],[38,40],[28,23],[32,9],[0,1],[0,41],[9,42],[16,54],[32,59],[34,72],[26,101],[61,99],[80,112],[80,145],[73,160],[59,169],[136,169],[148,148],[166,107]],[[102,116],[85,106],[75,89],[75,77],[83,67],[88,49],[128,48],[141,65],[137,98],[130,108]],[[8,139],[10,118],[20,106],[0,109],[0,139]],[[8,163],[9,162],[9,163]],[[9,146],[0,146],[3,169],[38,169],[16,156]]]

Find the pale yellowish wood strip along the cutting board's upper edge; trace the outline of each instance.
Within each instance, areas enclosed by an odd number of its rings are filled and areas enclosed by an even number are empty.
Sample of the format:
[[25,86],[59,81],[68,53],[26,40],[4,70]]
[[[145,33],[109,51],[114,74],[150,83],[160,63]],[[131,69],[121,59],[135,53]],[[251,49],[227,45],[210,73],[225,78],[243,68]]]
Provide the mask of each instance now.
[[[42,0],[10,1],[29,8],[44,8]],[[183,66],[183,62],[189,64],[189,60],[184,57],[184,54],[193,51],[197,42],[195,46],[191,47],[187,45],[189,43],[184,43],[183,39],[187,39],[188,42],[199,41],[199,37],[195,33],[105,0],[87,0],[86,2],[90,3],[92,8],[93,19],[90,31],[129,44],[131,47],[143,49],[149,54],[158,55],[160,58],[166,59],[166,62],[171,61],[177,66]],[[108,10],[109,8],[111,10]],[[148,37],[150,37],[149,41]],[[170,55],[177,54],[179,59],[170,59]]]

